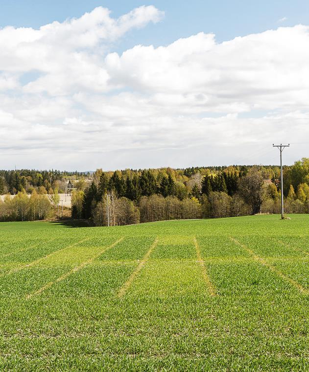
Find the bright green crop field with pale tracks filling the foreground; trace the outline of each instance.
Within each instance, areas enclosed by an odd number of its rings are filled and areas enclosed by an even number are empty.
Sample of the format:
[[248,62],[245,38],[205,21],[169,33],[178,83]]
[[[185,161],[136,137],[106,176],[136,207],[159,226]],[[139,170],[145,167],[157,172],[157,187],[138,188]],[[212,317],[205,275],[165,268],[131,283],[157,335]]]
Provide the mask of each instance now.
[[0,223],[0,370],[308,371],[309,215]]

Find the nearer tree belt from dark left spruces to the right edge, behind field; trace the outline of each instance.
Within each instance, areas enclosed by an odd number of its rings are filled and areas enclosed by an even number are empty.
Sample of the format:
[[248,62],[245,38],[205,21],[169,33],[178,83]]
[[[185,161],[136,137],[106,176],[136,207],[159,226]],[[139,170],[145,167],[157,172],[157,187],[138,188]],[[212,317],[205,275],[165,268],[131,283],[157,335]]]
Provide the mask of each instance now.
[[[309,212],[309,159],[285,167],[284,172],[286,212]],[[279,213],[279,177],[277,166],[98,169],[89,186],[74,192],[72,217],[105,226]]]

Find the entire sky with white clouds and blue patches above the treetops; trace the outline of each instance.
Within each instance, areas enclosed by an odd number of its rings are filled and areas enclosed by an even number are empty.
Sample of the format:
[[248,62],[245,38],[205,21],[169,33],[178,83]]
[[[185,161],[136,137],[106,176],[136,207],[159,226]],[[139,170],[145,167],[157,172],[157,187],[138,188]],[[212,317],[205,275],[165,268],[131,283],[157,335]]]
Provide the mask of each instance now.
[[309,157],[307,0],[0,9],[0,169]]

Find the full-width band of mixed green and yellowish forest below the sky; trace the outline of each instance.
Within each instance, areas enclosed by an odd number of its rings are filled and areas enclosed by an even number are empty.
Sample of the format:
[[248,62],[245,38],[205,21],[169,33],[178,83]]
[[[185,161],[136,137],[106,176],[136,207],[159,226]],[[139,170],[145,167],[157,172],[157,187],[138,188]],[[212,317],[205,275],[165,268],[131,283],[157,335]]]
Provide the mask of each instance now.
[[[68,186],[72,218],[97,226],[279,213],[279,178],[280,168],[275,165],[97,169],[93,173],[0,170],[0,194],[17,194],[0,201],[0,220],[48,218],[51,205],[57,205],[57,194]],[[284,167],[283,192],[286,213],[309,212],[308,158]]]

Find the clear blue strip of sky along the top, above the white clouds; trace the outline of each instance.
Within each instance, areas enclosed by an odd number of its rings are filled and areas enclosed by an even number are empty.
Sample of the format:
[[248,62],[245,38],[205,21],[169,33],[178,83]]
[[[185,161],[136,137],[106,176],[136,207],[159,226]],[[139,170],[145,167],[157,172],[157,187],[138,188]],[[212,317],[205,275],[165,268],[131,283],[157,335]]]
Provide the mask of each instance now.
[[159,25],[148,24],[142,33],[131,31],[119,42],[119,48],[140,43],[167,45],[201,31],[214,33],[217,42],[222,42],[280,25],[307,24],[309,20],[308,0],[0,0],[0,27],[38,28],[53,21],[78,18],[97,6],[110,9],[113,18],[117,18],[141,5],[154,5],[165,11],[164,20]]

